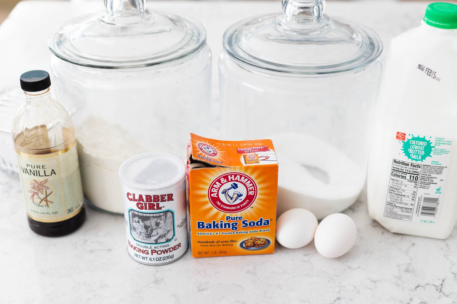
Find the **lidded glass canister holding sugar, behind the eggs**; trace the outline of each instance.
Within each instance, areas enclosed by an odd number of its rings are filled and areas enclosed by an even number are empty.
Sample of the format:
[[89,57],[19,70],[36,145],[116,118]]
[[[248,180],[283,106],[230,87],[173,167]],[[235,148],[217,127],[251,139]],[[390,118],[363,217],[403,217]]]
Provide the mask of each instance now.
[[282,0],[282,14],[239,21],[223,37],[222,131],[273,140],[278,215],[301,207],[323,218],[365,186],[382,42],[366,26],[324,15],[324,6]]

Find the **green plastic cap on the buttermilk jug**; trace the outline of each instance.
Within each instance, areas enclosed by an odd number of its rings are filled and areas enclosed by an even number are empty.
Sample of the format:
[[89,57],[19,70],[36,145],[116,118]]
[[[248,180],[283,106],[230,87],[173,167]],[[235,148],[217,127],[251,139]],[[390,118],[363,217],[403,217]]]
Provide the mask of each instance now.
[[456,29],[457,5],[446,2],[429,4],[425,11],[424,21],[430,26],[441,29]]

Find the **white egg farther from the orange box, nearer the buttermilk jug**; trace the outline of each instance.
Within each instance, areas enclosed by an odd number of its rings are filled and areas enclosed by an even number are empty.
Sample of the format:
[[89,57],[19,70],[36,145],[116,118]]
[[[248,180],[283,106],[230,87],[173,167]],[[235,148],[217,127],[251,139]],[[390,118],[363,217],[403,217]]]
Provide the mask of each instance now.
[[314,245],[325,258],[338,258],[348,252],[357,238],[356,223],[343,213],[325,217],[314,234]]

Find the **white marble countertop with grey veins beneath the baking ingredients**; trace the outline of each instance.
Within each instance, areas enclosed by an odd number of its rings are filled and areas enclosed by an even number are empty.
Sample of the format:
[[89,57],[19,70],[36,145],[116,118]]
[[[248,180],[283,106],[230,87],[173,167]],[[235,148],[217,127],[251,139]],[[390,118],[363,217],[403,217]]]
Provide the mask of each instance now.
[[[0,26],[0,89],[25,70],[48,68],[45,37],[68,18],[63,12],[100,10],[99,2],[21,3]],[[275,1],[151,2],[202,21],[215,63],[228,25],[279,10]],[[371,26],[388,44],[419,25],[425,5],[329,1],[327,12]],[[276,243],[270,255],[187,252],[151,267],[128,257],[122,216],[89,207],[78,231],[46,238],[27,226],[16,175],[0,172],[0,194],[0,303],[457,303],[457,228],[446,240],[392,234],[368,217],[365,195],[345,211],[358,238],[340,258],[323,258],[313,243],[295,250]]]

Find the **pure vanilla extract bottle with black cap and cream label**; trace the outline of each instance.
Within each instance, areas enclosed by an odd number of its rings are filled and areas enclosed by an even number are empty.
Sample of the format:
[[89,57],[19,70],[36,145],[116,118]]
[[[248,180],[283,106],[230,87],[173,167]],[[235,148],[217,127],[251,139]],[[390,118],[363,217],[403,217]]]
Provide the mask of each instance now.
[[32,231],[62,236],[85,220],[84,196],[69,114],[51,98],[48,72],[21,75],[25,103],[12,125],[19,176]]

